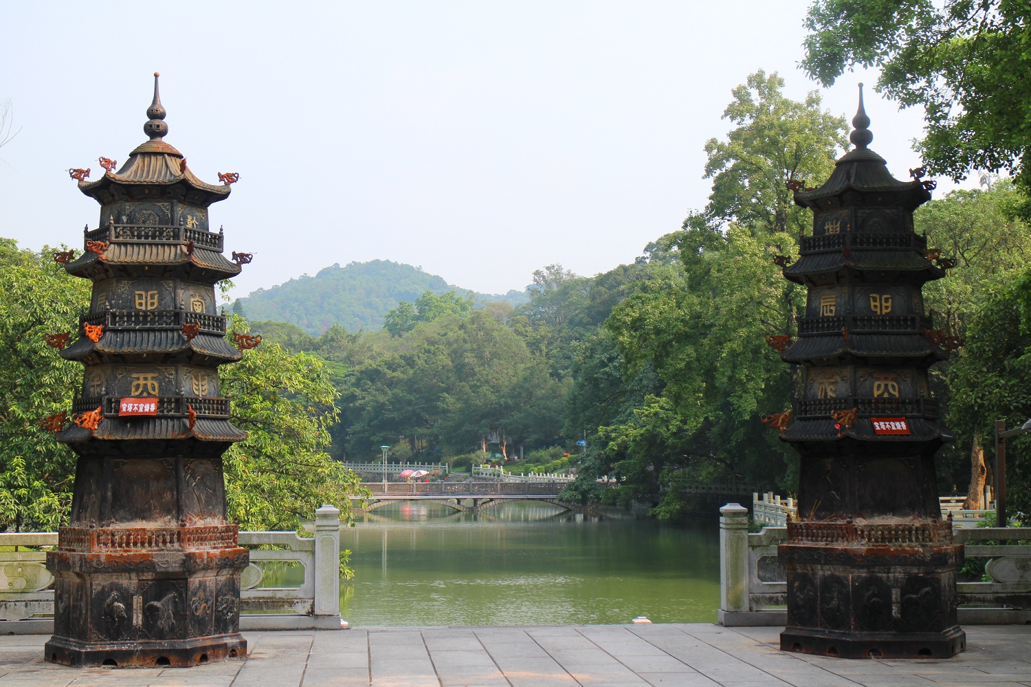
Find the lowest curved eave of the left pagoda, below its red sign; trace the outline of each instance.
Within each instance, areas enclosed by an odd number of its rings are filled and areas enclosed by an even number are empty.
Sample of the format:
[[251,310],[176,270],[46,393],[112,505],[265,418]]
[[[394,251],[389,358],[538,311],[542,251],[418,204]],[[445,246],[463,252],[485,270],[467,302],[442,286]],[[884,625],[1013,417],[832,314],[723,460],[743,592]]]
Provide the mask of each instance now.
[[107,417],[96,430],[77,424],[57,433],[62,444],[76,444],[94,439],[99,441],[182,440],[202,442],[237,442],[247,438],[247,433],[235,427],[229,420],[198,418],[193,430],[185,417],[134,417],[124,419]]

